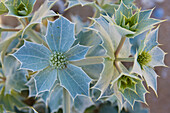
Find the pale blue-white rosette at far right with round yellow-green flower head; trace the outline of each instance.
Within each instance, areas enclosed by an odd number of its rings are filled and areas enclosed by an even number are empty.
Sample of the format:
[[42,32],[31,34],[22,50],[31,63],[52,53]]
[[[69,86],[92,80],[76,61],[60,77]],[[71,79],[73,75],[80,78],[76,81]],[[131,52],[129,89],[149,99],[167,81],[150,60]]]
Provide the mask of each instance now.
[[158,75],[153,68],[156,66],[166,66],[164,64],[165,53],[158,47],[158,29],[159,27],[150,31],[147,35],[146,33],[142,33],[131,39],[132,52],[133,54],[135,53],[132,73],[144,77],[147,86],[150,86],[156,94]]

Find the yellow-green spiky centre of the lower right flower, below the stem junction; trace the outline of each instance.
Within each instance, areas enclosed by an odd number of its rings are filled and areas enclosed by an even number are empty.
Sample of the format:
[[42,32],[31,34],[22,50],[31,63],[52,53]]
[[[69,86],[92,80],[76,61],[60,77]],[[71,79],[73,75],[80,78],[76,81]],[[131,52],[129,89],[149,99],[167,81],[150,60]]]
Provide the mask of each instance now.
[[121,91],[121,92],[124,92],[124,90],[126,88],[135,90],[135,88],[136,88],[136,81],[135,81],[134,78],[122,75],[122,77],[120,77],[118,79],[118,88],[119,88],[119,91]]

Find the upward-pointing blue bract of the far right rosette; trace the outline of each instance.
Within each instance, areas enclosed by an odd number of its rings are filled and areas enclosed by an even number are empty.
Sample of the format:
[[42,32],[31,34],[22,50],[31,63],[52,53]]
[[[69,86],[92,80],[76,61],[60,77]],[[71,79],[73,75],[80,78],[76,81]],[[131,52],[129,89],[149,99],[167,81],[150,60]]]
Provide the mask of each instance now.
[[151,31],[146,36],[145,48],[144,48],[145,51],[150,51],[152,48],[158,45],[158,30],[159,30],[159,27]]

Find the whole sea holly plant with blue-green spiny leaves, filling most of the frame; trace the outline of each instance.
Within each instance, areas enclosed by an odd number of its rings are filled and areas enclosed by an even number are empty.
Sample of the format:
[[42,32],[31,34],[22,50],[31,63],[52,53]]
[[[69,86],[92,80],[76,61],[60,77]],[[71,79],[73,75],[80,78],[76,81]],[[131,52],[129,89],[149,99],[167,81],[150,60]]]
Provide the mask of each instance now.
[[71,22],[51,10],[58,0],[32,12],[36,1],[0,2],[0,14],[20,22],[0,27],[0,112],[148,112],[136,102],[147,104],[149,88],[157,95],[154,68],[166,66],[154,9],[134,0],[67,0],[66,9],[95,9],[89,22]]

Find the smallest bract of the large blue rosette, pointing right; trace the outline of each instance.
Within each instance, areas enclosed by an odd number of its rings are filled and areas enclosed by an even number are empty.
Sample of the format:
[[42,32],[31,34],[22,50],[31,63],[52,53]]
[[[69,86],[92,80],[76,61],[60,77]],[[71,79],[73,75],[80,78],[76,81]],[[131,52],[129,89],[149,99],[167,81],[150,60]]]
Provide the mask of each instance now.
[[89,50],[89,47],[82,46],[82,45],[75,45],[71,49],[69,49],[65,55],[68,58],[69,61],[73,60],[80,60],[84,59],[87,51]]

